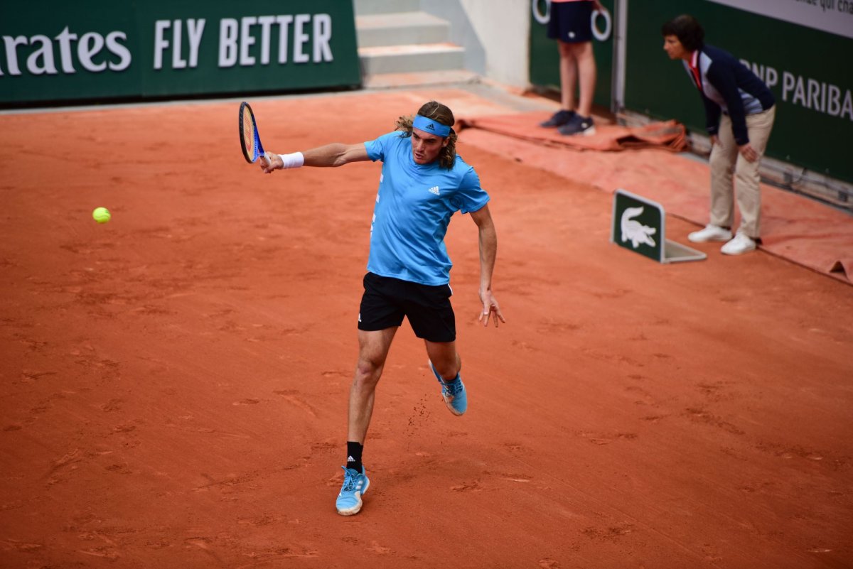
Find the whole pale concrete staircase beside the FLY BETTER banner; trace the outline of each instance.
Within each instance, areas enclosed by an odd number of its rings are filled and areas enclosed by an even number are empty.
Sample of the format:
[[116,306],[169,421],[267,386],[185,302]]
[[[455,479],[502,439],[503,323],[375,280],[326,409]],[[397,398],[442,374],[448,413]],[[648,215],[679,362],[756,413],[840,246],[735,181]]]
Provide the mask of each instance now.
[[421,12],[420,0],[355,0],[358,56],[366,88],[464,83],[465,49],[450,22]]

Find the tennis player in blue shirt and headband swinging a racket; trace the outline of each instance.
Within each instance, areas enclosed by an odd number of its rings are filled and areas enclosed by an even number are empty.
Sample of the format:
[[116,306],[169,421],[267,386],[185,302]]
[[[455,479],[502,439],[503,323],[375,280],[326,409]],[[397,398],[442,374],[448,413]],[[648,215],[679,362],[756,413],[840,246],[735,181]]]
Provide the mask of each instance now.
[[397,129],[374,141],[334,143],[305,152],[270,154],[265,173],[300,166],[343,166],[382,161],[379,193],[370,229],[368,273],[358,314],[358,364],[350,388],[344,486],[336,507],[357,514],[370,481],[362,464],[364,439],[373,413],[376,384],[403,317],[423,338],[429,367],[454,415],[467,410],[467,394],[456,353],[456,318],[450,306],[450,257],[444,234],[457,210],[479,228],[479,297],[483,325],[506,322],[491,291],[497,235],[489,194],[471,166],[456,156],[453,112],[430,101],[415,118],[401,117]]

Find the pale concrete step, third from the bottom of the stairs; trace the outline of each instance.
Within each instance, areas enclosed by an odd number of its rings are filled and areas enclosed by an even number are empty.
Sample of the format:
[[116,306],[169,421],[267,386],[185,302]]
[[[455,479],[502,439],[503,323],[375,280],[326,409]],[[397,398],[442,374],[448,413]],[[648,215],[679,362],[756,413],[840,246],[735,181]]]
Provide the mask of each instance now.
[[450,22],[426,12],[394,12],[356,16],[358,47],[404,43],[442,43],[450,37]]

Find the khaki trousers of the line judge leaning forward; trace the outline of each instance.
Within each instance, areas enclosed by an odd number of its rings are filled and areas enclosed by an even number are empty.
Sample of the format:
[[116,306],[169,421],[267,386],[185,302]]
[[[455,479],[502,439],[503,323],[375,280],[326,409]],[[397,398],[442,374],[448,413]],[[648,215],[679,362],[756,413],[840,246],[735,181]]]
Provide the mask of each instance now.
[[[767,148],[776,106],[767,111],[746,117],[746,131],[750,146],[758,153],[755,162],[749,162],[738,152],[732,133],[732,119],[720,117],[719,144],[711,147],[711,225],[734,225],[734,198],[740,210],[738,233],[757,239],[761,236],[761,190],[758,164]],[[734,180],[733,180],[734,176]]]

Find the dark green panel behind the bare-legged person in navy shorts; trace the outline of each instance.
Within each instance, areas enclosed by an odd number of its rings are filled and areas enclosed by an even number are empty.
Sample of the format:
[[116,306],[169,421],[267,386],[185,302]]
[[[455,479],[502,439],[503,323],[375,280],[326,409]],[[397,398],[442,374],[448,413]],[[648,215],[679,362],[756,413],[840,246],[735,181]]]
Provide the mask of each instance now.
[[[595,16],[590,26],[595,26],[595,105],[610,108],[613,69],[613,35],[615,18],[613,4],[615,0],[601,0],[609,14]],[[550,0],[531,1],[530,32],[530,81],[534,85],[560,89],[560,54],[557,41],[548,39],[548,19],[550,18]]]

